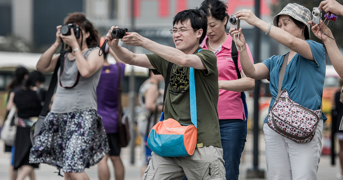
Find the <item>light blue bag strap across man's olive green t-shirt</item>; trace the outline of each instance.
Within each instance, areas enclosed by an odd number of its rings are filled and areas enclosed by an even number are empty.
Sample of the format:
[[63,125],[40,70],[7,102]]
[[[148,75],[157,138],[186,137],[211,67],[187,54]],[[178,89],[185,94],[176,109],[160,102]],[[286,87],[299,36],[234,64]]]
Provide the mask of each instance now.
[[[201,51],[202,49],[199,49]],[[199,52],[198,51],[198,52]],[[191,107],[191,121],[193,125],[197,126],[197,97],[195,93],[195,82],[194,82],[194,68],[189,68],[189,97],[190,97],[190,107]]]

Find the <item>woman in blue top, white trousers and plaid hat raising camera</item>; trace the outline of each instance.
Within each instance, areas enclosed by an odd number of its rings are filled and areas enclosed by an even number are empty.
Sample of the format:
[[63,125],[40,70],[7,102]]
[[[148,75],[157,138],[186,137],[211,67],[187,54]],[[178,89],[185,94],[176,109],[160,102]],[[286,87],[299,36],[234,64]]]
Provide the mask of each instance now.
[[[251,10],[238,11],[236,16],[289,47],[282,89],[285,88],[289,98],[301,106],[312,110],[320,109],[326,69],[325,50],[322,44],[309,40],[308,21],[312,17],[310,10],[296,3],[289,3],[274,17],[274,26],[257,18]],[[278,94],[280,67],[286,54],[272,56],[262,63],[252,64],[241,29],[233,28],[229,32],[232,36],[239,35],[237,45],[243,47],[239,56],[245,74],[254,79],[270,79],[271,107]],[[314,137],[306,143],[297,143],[281,136],[269,128],[267,123],[264,124],[269,179],[317,179],[323,120],[326,119],[326,116],[322,114]]]

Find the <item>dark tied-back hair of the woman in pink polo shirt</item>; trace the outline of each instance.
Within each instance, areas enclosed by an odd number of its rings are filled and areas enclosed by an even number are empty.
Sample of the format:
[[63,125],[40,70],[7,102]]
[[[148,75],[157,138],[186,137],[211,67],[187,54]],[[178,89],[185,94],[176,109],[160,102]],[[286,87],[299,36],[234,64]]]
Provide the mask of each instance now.
[[229,21],[229,15],[226,13],[227,6],[226,3],[221,0],[205,0],[200,4],[200,9],[206,14],[206,17],[212,15],[216,20],[224,21],[226,17],[226,24]]

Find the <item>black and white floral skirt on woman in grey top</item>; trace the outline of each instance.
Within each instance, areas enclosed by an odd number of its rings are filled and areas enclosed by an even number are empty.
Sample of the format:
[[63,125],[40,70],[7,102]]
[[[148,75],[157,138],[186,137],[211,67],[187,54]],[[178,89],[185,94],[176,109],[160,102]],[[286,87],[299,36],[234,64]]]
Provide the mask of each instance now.
[[84,172],[96,165],[109,151],[102,118],[95,109],[69,113],[48,113],[30,163],[46,163],[63,172]]

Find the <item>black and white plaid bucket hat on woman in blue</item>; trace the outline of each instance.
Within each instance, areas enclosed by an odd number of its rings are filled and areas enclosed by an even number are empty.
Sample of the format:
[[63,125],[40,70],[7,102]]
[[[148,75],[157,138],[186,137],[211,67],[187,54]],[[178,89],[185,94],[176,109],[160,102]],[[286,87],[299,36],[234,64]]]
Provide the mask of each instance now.
[[273,19],[273,23],[274,23],[274,26],[276,27],[278,27],[277,19],[279,18],[281,14],[289,15],[292,18],[304,23],[307,26],[308,36],[310,37],[311,28],[308,21],[311,21],[312,13],[309,9],[297,3],[288,3],[287,6],[285,6],[279,14],[275,15]]

